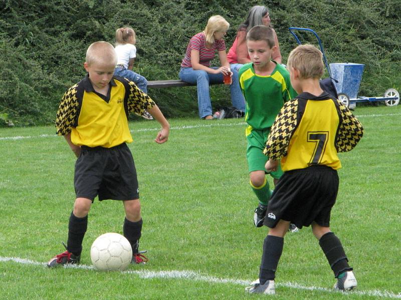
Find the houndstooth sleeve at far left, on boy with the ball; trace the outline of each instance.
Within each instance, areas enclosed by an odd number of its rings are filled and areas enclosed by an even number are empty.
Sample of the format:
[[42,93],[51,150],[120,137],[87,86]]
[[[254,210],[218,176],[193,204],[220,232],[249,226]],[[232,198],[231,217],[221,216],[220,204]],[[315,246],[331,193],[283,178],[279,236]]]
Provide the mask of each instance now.
[[78,113],[78,83],[71,86],[63,95],[56,116],[58,135],[66,135],[74,127]]

